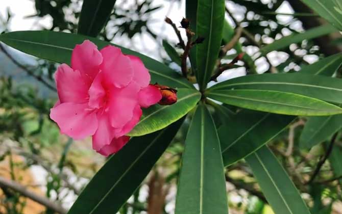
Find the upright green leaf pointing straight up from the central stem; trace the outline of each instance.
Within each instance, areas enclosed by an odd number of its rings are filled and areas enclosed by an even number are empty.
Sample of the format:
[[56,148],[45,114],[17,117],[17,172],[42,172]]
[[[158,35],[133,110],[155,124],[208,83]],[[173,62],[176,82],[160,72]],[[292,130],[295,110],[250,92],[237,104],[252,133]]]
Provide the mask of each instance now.
[[197,47],[196,55],[196,77],[201,90],[206,88],[218,57],[224,20],[224,0],[198,1],[196,33],[204,37],[203,43]]

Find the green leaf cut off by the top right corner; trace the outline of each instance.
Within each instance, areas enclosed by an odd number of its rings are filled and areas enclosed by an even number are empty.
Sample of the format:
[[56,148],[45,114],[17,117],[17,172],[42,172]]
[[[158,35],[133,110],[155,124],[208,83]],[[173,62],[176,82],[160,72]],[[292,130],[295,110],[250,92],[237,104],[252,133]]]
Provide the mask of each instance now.
[[340,0],[302,0],[302,2],[342,31],[342,3]]

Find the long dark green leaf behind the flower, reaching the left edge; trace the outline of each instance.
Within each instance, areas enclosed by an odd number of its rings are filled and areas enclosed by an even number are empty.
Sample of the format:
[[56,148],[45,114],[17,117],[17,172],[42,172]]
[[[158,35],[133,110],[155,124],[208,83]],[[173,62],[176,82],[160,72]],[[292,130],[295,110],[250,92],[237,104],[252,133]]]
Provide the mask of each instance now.
[[86,39],[94,42],[99,49],[114,45],[121,48],[125,54],[139,57],[150,70],[152,83],[157,82],[173,88],[193,88],[185,78],[166,65],[141,53],[93,37],[52,31],[16,31],[0,35],[0,41],[15,49],[38,58],[67,64],[70,64],[71,52],[75,45]]

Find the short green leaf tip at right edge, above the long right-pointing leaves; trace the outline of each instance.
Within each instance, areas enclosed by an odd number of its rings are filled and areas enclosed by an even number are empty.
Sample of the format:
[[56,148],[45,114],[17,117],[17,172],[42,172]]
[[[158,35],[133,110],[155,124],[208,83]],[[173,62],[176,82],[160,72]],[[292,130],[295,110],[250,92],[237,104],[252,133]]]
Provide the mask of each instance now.
[[312,65],[303,67],[299,73],[311,75],[332,76],[342,64],[342,54],[337,53],[333,56],[324,58]]

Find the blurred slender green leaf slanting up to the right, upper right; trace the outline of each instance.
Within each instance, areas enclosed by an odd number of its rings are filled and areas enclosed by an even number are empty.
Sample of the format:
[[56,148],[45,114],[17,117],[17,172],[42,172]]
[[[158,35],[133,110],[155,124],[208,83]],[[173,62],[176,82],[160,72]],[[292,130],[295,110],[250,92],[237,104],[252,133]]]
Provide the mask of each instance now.
[[[308,0],[308,1],[312,1],[312,0]],[[289,46],[290,44],[299,43],[299,42],[302,42],[303,40],[314,39],[316,37],[334,33],[336,31],[337,30],[331,25],[318,26],[316,28],[307,30],[303,33],[292,34],[292,35],[283,37],[279,40],[275,40],[271,44],[261,47],[260,51],[263,55],[266,55],[267,53],[271,51],[280,50],[282,48]]]

